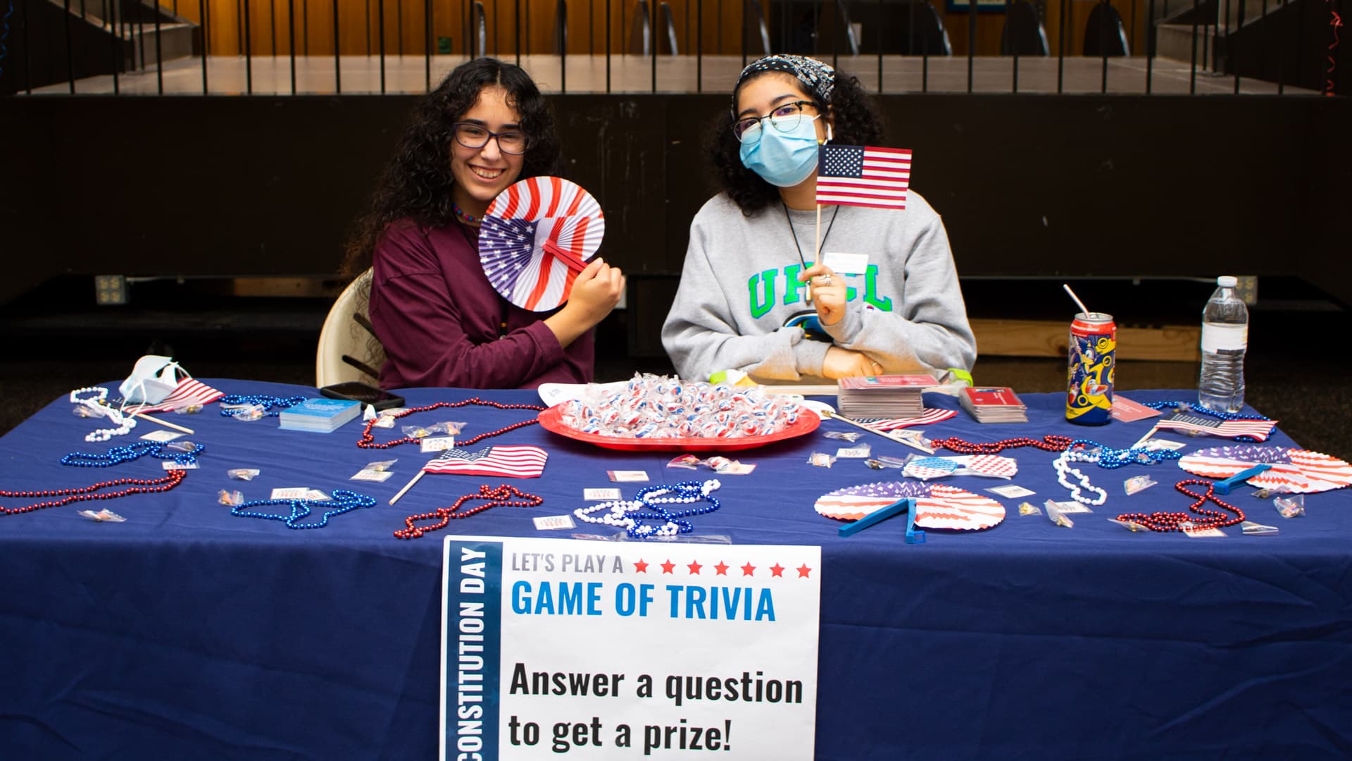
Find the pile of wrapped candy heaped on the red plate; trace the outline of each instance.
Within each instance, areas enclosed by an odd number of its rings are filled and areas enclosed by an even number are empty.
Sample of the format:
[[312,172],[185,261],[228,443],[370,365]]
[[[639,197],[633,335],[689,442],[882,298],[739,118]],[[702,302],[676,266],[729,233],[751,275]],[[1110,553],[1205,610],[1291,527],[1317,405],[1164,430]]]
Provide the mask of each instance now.
[[777,433],[811,414],[761,389],[637,374],[625,387],[592,385],[564,402],[562,421],[583,433],[625,439],[740,439]]

